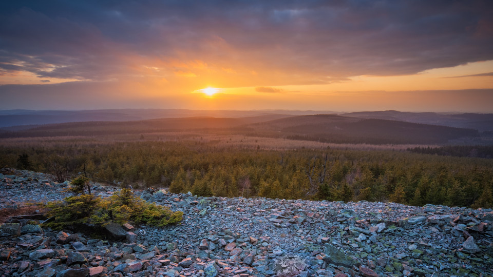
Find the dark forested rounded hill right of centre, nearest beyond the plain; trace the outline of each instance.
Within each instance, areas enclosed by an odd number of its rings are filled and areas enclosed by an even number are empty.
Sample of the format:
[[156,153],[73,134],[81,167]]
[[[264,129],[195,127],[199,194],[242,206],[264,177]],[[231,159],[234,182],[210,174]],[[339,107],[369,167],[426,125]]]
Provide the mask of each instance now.
[[331,143],[432,144],[479,136],[473,129],[339,115],[294,116],[248,127],[258,135]]

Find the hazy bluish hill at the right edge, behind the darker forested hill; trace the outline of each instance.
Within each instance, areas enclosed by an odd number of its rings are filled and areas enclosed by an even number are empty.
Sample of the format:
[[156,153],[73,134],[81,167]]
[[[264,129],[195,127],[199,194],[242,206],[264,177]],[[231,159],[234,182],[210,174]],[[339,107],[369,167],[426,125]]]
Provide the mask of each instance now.
[[341,114],[358,118],[405,121],[449,127],[469,128],[478,131],[493,131],[492,113],[445,114],[435,112],[367,111]]

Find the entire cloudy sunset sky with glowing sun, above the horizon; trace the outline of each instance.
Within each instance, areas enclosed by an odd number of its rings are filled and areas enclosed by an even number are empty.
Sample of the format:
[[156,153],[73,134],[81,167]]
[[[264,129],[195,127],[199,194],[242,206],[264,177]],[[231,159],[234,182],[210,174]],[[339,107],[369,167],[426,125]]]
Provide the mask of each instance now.
[[493,1],[2,1],[0,109],[493,113]]

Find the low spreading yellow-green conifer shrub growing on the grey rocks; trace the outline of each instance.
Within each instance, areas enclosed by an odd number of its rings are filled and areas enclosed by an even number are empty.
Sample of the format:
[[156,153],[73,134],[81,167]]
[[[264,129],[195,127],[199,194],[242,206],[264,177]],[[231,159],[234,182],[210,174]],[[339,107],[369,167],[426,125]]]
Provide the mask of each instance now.
[[52,229],[81,226],[104,227],[114,222],[165,226],[182,220],[183,212],[148,203],[134,195],[130,189],[121,189],[110,197],[91,194],[69,196],[64,201],[48,202],[47,215],[52,220],[45,225]]

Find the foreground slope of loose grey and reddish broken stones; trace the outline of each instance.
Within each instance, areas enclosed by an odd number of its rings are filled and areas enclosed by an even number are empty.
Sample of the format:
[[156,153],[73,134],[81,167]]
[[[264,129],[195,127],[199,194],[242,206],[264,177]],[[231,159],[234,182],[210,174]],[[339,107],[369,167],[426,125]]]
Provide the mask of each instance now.
[[[49,175],[3,172],[0,209],[67,196],[61,192],[67,184]],[[102,196],[116,189],[92,186]],[[0,227],[0,275],[493,275],[490,209],[136,193],[183,211],[183,221],[117,226],[125,238],[98,240],[13,219]]]

